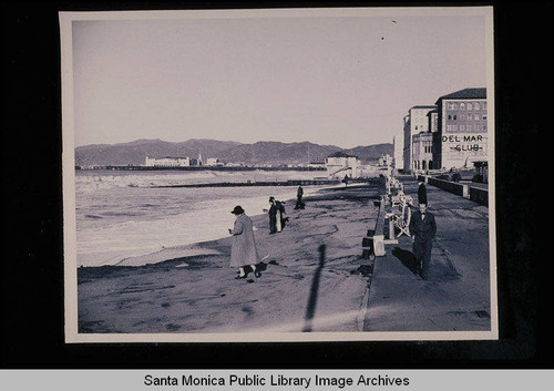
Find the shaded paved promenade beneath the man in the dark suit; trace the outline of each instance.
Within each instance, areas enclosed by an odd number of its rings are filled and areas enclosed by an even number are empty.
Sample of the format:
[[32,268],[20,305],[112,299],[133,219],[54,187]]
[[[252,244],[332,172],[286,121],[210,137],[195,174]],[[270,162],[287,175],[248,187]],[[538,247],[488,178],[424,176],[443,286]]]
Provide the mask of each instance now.
[[[417,208],[418,183],[400,181]],[[410,237],[386,245],[373,265],[365,331],[491,330],[489,208],[430,185],[427,191],[438,226],[430,278],[413,271]]]

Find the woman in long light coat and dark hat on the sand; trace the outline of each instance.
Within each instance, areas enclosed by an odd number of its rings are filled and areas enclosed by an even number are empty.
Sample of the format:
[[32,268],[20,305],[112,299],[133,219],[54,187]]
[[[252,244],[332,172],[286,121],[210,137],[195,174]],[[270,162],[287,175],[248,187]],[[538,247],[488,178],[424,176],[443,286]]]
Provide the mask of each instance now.
[[232,214],[236,215],[237,218],[233,229],[229,228],[229,234],[233,235],[229,267],[238,267],[238,276],[235,277],[236,279],[246,278],[245,266],[250,266],[254,275],[259,277],[260,274],[256,269],[259,256],[256,248],[256,241],[254,240],[252,219],[245,214],[240,205],[235,206]]

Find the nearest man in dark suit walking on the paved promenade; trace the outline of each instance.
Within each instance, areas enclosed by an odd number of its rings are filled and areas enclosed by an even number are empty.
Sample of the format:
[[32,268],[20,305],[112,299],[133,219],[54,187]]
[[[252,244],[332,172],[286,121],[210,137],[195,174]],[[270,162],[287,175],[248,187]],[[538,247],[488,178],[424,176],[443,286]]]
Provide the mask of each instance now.
[[413,240],[412,253],[416,257],[416,271],[424,280],[429,278],[432,239],[437,235],[434,215],[427,210],[425,204],[419,205],[410,219],[410,234]]

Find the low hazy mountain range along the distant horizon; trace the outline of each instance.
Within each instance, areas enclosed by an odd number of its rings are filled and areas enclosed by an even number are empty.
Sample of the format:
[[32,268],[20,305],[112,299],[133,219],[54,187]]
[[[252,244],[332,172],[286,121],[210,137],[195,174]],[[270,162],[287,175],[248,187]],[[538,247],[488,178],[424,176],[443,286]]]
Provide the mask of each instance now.
[[150,157],[198,157],[205,162],[208,157],[219,158],[224,163],[244,163],[246,165],[285,165],[325,162],[334,153],[343,152],[358,156],[362,164],[377,162],[384,154],[392,155],[390,143],[357,146],[345,150],[335,145],[319,145],[309,142],[279,143],[260,141],[244,144],[229,141],[192,138],[181,143],[162,140],[137,140],[121,144],[92,144],[75,148],[75,165],[142,165]]

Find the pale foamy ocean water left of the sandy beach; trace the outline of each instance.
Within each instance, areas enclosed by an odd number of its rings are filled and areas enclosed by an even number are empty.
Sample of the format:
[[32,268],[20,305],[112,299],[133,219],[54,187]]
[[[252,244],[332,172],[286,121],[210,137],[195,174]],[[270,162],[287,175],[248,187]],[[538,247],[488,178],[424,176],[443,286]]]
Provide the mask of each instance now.
[[[268,207],[269,196],[295,199],[297,191],[296,186],[156,186],[316,176],[321,172],[76,171],[76,266],[140,266],[165,260],[164,256],[144,257],[162,250],[173,258],[191,255],[179,248],[228,236],[227,229],[235,220],[230,210],[236,205],[242,205],[249,216],[260,215]],[[305,186],[305,194],[317,189]],[[287,208],[293,205],[288,203]]]

